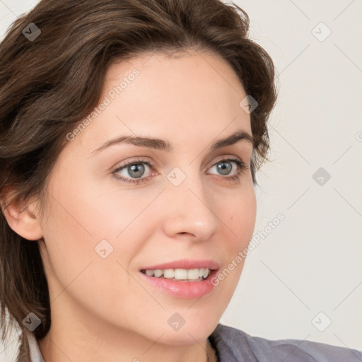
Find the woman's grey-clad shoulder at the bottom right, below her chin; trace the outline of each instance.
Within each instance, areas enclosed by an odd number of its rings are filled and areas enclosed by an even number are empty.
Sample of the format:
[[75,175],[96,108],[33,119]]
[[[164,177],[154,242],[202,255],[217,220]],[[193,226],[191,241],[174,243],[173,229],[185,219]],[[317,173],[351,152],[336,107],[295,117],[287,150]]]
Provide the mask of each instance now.
[[221,324],[218,324],[209,339],[217,351],[220,362],[362,361],[362,352],[356,349],[300,339],[264,339]]

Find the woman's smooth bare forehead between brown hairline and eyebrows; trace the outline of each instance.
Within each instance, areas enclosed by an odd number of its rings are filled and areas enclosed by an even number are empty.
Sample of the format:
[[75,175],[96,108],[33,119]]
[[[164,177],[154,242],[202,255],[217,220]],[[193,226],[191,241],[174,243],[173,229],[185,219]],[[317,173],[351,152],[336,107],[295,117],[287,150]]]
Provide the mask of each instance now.
[[107,103],[82,132],[92,148],[116,134],[208,142],[243,129],[250,115],[240,108],[243,85],[230,65],[212,53],[169,57],[143,54],[112,64],[100,103]]

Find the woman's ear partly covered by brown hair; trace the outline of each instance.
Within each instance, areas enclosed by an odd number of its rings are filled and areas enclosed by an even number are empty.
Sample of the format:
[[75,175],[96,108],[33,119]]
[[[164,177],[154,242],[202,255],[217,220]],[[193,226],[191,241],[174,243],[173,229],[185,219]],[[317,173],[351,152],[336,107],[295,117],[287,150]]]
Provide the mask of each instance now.
[[8,226],[18,235],[27,240],[39,240],[42,238],[42,228],[37,216],[38,201],[24,202],[16,199],[5,208],[6,199],[11,192],[1,194],[0,204]]

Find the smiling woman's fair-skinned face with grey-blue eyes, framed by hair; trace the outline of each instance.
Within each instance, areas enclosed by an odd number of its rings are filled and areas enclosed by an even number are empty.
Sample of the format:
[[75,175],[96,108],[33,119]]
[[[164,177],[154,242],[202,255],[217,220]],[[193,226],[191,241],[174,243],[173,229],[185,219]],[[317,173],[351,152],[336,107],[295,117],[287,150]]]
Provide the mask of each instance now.
[[211,54],[144,54],[110,67],[99,114],[67,136],[46,188],[40,247],[52,328],[166,344],[211,334],[243,263],[216,286],[211,277],[255,226],[245,96]]

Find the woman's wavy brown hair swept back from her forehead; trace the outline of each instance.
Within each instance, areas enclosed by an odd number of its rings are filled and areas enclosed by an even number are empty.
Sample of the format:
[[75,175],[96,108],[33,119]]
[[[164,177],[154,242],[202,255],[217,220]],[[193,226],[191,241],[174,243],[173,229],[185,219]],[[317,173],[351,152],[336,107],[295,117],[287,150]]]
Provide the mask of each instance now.
[[[26,36],[30,23],[41,32],[35,39]],[[250,114],[256,183],[255,170],[269,149],[267,119],[276,88],[273,62],[248,31],[247,13],[219,0],[40,1],[0,44],[0,196],[7,203],[43,196],[65,135],[98,104],[110,64],[144,52],[187,49],[221,56],[257,100]],[[36,339],[49,331],[47,279],[38,243],[16,234],[3,213],[0,229],[1,338],[10,326],[7,308],[23,332],[23,361],[28,344],[22,321],[28,313],[42,321],[33,332]]]

